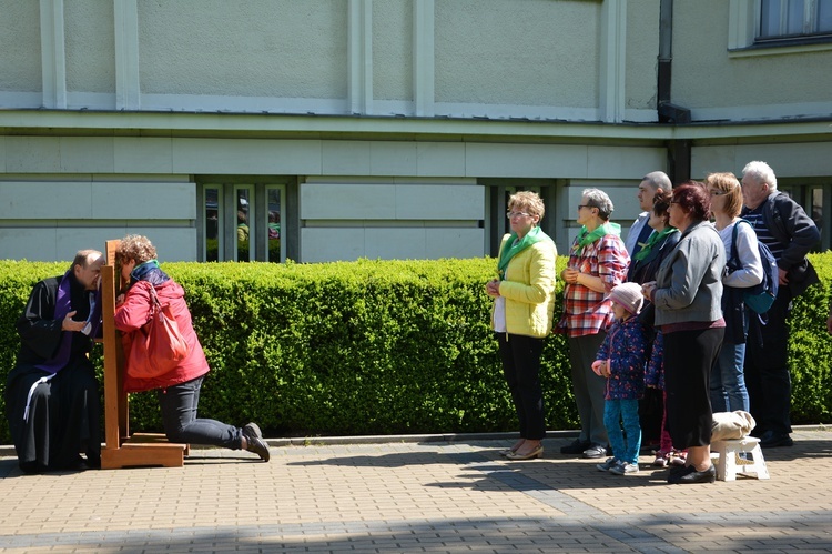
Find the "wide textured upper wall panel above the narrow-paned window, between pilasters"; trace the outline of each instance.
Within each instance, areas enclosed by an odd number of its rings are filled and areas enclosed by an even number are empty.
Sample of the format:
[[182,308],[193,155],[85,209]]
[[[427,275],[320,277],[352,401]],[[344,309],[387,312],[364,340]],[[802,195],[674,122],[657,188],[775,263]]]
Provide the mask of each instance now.
[[182,95],[207,97],[205,109],[214,97],[343,100],[347,20],[346,0],[139,2],[143,108],[199,105]]

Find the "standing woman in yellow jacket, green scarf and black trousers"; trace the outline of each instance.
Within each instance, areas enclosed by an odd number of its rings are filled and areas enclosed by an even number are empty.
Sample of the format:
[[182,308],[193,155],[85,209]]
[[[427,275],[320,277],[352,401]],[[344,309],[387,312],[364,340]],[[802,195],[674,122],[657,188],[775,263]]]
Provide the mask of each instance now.
[[511,233],[500,244],[499,279],[490,281],[486,291],[495,299],[491,326],[520,420],[520,440],[503,454],[509,460],[530,460],[542,454],[540,441],[546,435],[540,354],[551,332],[557,249],[538,226],[544,201],[537,193],[513,194],[507,215]]

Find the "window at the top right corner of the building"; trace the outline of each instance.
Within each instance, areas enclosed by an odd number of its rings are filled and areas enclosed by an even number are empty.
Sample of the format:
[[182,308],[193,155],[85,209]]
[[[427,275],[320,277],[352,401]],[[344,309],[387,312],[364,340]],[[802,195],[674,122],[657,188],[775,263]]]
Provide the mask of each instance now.
[[832,37],[832,0],[761,0],[760,42]]

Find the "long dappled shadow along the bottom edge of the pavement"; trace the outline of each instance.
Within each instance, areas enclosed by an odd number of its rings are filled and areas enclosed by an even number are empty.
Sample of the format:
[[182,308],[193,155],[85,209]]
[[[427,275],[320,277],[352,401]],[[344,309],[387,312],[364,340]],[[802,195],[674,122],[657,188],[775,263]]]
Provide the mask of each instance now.
[[[768,552],[784,552],[800,542],[804,548],[829,546],[825,523],[819,517],[804,521],[794,532],[789,516],[720,522],[719,550],[760,548],[760,537],[748,535],[750,527],[765,525],[791,531],[768,536]],[[50,533],[4,537],[7,548],[95,548],[97,552],[520,552],[520,551],[608,551],[686,552],[690,541],[712,532],[713,522],[684,516],[645,514],[580,521],[576,518],[484,518],[383,523],[256,525],[241,527],[195,527],[184,530],[130,530],[119,532]],[[745,535],[744,535],[745,534]],[[341,536],[338,536],[341,535]],[[744,536],[743,536],[744,535]],[[717,545],[714,545],[716,547]]]

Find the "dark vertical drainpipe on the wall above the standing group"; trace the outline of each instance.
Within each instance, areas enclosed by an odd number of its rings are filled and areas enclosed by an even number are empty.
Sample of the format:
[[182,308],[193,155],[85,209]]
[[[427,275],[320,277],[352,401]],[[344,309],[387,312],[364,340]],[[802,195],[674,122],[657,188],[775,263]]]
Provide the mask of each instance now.
[[[659,123],[690,123],[690,110],[670,101],[670,84],[673,68],[673,0],[661,0],[659,4]],[[691,141],[671,140],[668,143],[668,173],[674,183],[690,179]]]

